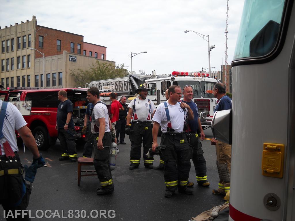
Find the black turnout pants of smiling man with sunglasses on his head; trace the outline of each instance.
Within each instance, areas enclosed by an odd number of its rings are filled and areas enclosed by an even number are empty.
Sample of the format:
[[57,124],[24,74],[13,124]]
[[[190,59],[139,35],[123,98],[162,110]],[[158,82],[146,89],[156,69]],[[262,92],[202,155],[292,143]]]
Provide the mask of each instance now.
[[206,160],[203,156],[202,144],[197,133],[189,133],[189,143],[193,147],[193,163],[196,171],[196,179],[198,184],[208,182]]

